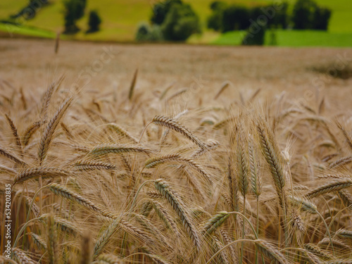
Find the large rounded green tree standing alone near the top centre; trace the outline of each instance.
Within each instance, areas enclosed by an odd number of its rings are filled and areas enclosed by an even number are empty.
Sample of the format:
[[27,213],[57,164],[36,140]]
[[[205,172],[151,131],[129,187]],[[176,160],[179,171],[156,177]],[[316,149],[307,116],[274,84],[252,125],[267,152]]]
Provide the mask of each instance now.
[[166,40],[184,41],[193,33],[201,32],[199,18],[189,4],[174,4],[161,25]]

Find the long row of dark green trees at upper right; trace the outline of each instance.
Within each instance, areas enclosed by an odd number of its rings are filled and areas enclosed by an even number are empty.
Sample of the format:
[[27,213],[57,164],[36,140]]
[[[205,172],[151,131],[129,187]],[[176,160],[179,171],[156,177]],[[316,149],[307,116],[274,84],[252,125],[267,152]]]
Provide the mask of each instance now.
[[208,18],[208,28],[219,32],[247,30],[254,23],[282,29],[327,30],[332,13],[329,8],[318,6],[313,0],[296,1],[291,13],[286,1],[253,8],[213,1],[210,8],[213,12]]

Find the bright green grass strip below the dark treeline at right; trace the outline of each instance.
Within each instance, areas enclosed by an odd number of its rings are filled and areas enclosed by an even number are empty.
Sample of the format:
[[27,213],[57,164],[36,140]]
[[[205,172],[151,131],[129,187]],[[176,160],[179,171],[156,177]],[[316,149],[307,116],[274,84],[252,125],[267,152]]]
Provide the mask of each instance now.
[[[239,45],[246,32],[221,34],[211,44]],[[265,45],[270,45],[271,32],[265,32]],[[352,33],[322,32],[313,30],[275,30],[277,46],[352,46]]]

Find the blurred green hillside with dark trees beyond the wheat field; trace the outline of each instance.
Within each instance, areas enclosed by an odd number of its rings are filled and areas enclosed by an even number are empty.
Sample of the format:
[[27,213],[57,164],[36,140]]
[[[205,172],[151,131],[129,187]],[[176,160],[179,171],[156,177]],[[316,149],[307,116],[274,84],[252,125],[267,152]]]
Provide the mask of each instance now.
[[100,42],[351,46],[351,18],[349,0],[0,2],[2,37]]

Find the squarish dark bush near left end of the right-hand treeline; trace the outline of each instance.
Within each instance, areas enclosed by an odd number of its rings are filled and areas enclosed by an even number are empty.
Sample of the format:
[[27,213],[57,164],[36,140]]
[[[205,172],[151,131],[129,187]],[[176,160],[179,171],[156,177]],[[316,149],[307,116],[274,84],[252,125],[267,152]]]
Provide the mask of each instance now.
[[250,25],[249,9],[244,6],[228,6],[222,13],[222,32],[246,30]]

